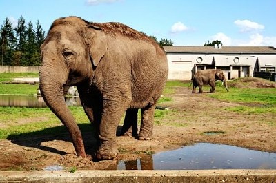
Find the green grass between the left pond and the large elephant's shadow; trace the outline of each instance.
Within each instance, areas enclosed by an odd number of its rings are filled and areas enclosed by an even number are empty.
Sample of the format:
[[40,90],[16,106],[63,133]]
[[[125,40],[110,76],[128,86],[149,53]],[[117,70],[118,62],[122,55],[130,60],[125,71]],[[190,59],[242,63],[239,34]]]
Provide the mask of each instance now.
[[[78,124],[89,124],[88,117],[82,107],[70,107]],[[28,122],[32,119],[31,122]],[[39,135],[48,133],[63,133],[66,128],[49,108],[16,108],[0,107],[0,123],[7,126],[0,128],[0,139],[6,139],[10,135],[20,135],[37,132]],[[23,123],[23,124],[22,124]],[[61,126],[61,128],[53,128]],[[44,131],[49,128],[48,131]],[[87,131],[83,128],[82,131]]]

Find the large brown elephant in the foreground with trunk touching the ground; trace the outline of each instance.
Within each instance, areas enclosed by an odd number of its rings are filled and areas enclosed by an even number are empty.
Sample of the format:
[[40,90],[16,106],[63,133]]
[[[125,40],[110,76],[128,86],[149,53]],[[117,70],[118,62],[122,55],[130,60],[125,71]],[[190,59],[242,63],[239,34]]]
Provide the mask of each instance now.
[[121,23],[66,17],[52,23],[41,54],[41,95],[68,128],[78,156],[86,157],[86,152],[64,102],[67,86],[77,86],[83,109],[96,128],[97,158],[117,156],[116,130],[125,112],[127,128],[132,119],[137,121],[141,108],[139,139],[152,138],[155,106],[168,76],[166,55],[154,40]]

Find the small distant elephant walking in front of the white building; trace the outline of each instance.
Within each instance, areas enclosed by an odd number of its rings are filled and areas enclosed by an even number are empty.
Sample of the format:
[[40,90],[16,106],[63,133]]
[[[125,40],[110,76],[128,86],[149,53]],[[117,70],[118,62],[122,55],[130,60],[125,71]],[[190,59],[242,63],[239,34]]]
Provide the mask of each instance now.
[[215,81],[217,80],[223,81],[226,90],[229,91],[227,87],[226,77],[224,76],[223,70],[221,69],[198,70],[193,77],[192,93],[195,93],[197,86],[199,87],[199,93],[202,93],[202,86],[207,84],[209,84],[212,87],[210,88],[210,93],[215,92]]

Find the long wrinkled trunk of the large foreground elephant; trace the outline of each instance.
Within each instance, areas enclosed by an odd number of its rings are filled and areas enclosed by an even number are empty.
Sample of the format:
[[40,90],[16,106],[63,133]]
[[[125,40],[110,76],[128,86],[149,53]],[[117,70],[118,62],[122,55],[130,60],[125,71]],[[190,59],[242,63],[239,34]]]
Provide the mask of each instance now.
[[64,71],[61,72],[59,69],[61,68],[46,66],[45,64],[41,66],[39,72],[39,89],[41,90],[41,96],[50,110],[55,113],[68,129],[77,155],[86,157],[81,131],[72,113],[66,106],[63,95],[63,86],[68,79],[68,73],[62,74]]

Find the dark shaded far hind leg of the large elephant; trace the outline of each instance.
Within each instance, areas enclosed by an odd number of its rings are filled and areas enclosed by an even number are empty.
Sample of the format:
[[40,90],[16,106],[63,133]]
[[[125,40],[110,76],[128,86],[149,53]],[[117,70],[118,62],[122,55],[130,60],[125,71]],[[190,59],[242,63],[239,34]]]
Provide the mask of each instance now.
[[[124,119],[124,125],[121,128],[120,135],[137,137],[138,127],[137,127],[137,108],[129,108],[126,110],[126,116]],[[131,128],[132,127],[132,128]]]

